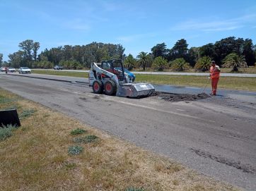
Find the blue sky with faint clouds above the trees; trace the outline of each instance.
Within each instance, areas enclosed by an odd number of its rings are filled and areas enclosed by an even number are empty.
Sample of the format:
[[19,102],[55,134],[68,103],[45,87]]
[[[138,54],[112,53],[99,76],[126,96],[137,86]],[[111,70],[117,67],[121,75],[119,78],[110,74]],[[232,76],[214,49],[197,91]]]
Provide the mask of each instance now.
[[256,44],[255,0],[0,0],[4,61],[25,39],[40,42],[40,51],[104,42],[137,56],[163,42],[170,49],[184,38],[199,47],[230,36]]

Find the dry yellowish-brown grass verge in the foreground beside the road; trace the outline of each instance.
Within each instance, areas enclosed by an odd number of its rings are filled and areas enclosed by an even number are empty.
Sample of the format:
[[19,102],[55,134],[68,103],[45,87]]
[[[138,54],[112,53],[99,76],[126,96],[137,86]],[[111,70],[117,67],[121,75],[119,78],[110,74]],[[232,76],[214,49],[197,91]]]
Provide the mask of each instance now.
[[[1,89],[0,94],[12,100],[0,109],[36,111],[0,142],[0,190],[236,190],[33,101]],[[78,144],[83,153],[71,156],[68,149],[81,136],[71,135],[76,128],[98,141]]]

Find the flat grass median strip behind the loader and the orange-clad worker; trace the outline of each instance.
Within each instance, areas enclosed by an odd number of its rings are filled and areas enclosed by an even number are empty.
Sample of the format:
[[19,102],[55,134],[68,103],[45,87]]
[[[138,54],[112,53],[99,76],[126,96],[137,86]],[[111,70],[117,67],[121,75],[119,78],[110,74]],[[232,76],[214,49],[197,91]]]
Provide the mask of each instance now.
[[[253,69],[255,70],[255,68]],[[87,73],[85,74],[85,73],[78,73],[78,72],[35,70],[34,73],[88,78]],[[153,84],[164,84],[164,85],[204,87],[207,80],[208,80],[208,76],[136,74],[136,82],[151,82]],[[231,89],[231,90],[256,91],[255,82],[256,82],[256,78],[221,77],[219,80],[218,87],[224,88],[224,89]],[[210,83],[207,87],[211,87]]]

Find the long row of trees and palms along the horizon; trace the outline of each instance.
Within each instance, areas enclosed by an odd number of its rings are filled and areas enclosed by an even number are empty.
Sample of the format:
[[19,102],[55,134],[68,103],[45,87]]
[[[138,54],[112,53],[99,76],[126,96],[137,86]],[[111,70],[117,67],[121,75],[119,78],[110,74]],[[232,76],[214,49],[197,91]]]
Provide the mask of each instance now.
[[191,47],[185,39],[178,40],[175,45],[168,49],[165,43],[156,44],[151,52],[141,51],[136,57],[124,54],[121,44],[104,44],[92,42],[86,45],[65,45],[45,49],[38,54],[39,42],[27,39],[18,44],[20,48],[13,54],[9,54],[8,62],[2,62],[3,54],[0,54],[2,66],[19,68],[52,68],[54,65],[62,65],[68,69],[90,68],[92,62],[100,62],[107,59],[118,58],[124,60],[124,65],[129,70],[133,68],[153,68],[164,70],[208,70],[211,60],[219,66],[231,67],[238,70],[239,67],[254,66],[256,61],[256,45],[252,39],[227,37],[217,42],[205,44],[202,47]]

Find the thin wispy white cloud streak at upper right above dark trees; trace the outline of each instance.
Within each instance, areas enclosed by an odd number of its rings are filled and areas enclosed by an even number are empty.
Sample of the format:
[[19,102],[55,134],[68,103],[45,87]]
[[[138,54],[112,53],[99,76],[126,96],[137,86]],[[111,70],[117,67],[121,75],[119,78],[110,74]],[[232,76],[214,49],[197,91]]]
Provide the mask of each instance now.
[[242,16],[240,18],[233,18],[229,20],[188,20],[184,23],[180,23],[171,27],[171,30],[202,30],[205,32],[211,31],[225,31],[235,30],[245,27],[245,25],[255,25],[256,14]]

